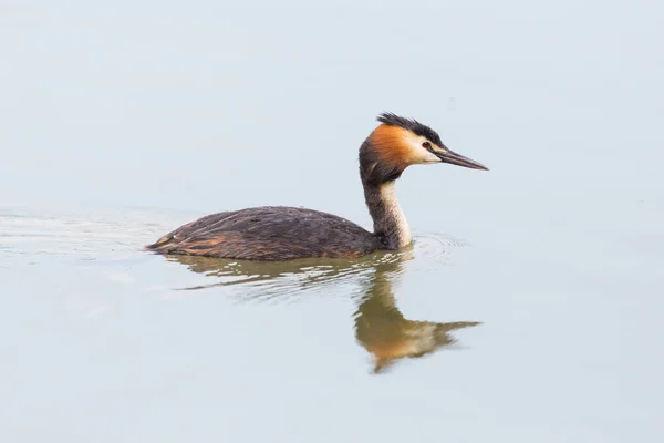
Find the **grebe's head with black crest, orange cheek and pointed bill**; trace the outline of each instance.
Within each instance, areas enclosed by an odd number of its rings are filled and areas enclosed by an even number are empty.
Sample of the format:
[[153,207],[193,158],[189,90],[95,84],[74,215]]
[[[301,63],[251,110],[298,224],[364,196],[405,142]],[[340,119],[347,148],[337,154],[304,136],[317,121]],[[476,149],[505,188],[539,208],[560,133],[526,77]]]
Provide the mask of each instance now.
[[362,179],[367,183],[391,182],[411,165],[449,163],[471,169],[488,171],[483,164],[450,151],[430,127],[392,113],[378,115],[381,125],[360,148]]

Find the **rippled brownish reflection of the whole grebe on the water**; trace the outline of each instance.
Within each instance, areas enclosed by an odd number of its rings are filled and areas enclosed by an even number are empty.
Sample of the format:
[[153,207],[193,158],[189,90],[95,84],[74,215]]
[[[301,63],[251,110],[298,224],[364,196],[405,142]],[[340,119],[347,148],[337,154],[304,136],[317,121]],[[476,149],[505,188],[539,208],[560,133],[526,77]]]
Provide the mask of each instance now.
[[346,259],[301,259],[260,262],[209,257],[172,255],[189,270],[218,280],[210,285],[183,288],[196,290],[241,285],[242,297],[253,300],[286,301],[310,291],[320,291],[344,282],[360,282],[355,337],[373,357],[373,372],[380,373],[406,358],[419,358],[456,342],[450,332],[480,324],[477,321],[435,322],[408,320],[400,311],[393,286],[403,275],[412,250],[377,253]]

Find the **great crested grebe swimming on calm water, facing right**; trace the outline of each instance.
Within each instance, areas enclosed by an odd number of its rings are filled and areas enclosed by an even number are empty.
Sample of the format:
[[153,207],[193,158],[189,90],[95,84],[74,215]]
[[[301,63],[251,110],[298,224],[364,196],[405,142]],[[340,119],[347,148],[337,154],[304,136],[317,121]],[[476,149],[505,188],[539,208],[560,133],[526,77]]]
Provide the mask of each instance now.
[[166,234],[146,249],[247,260],[292,260],[352,258],[408,246],[413,236],[394,189],[406,167],[449,163],[488,169],[448,150],[434,130],[415,120],[383,113],[377,121],[381,124],[360,146],[360,177],[373,233],[319,210],[262,206],[205,216]]

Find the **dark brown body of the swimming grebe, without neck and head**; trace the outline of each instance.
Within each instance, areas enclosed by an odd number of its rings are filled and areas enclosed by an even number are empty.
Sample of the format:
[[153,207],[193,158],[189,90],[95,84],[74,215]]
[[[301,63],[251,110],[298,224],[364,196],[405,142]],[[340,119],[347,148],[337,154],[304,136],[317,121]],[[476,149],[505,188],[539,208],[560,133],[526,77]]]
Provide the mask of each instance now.
[[360,257],[381,248],[356,224],[312,209],[264,206],[212,214],[159,238],[148,249],[250,260]]

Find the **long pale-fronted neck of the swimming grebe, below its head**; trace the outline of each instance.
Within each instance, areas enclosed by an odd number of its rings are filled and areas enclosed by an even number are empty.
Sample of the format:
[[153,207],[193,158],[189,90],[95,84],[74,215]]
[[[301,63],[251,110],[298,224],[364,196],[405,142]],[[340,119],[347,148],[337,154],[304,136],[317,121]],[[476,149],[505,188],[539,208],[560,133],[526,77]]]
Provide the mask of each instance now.
[[363,182],[364,198],[374,222],[374,234],[386,249],[401,249],[413,240],[411,227],[396,200],[395,181]]

